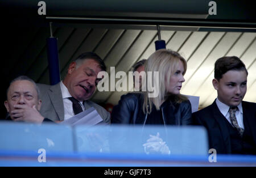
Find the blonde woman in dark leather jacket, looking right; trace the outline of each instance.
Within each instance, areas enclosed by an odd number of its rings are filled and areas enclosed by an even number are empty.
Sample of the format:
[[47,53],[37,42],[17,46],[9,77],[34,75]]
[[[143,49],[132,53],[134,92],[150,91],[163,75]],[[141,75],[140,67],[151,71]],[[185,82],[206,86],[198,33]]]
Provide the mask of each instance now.
[[[187,62],[179,53],[160,49],[151,54],[146,62],[148,72],[159,73],[159,94],[149,98],[149,91],[143,94],[127,94],[121,97],[113,108],[112,123],[118,124],[154,124],[189,125],[192,124],[191,104],[180,95]],[[154,76],[154,74],[152,74]],[[148,80],[148,76],[147,76]]]

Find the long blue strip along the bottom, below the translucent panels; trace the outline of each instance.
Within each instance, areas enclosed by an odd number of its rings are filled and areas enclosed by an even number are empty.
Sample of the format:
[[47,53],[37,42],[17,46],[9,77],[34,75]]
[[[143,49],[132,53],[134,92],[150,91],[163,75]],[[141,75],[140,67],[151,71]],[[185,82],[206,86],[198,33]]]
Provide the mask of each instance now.
[[106,167],[106,170],[110,167],[256,166],[255,155],[217,155],[217,162],[209,162],[208,156],[203,155],[50,152],[46,155],[46,162],[38,162],[38,156],[29,151],[0,150],[0,166],[97,166]]

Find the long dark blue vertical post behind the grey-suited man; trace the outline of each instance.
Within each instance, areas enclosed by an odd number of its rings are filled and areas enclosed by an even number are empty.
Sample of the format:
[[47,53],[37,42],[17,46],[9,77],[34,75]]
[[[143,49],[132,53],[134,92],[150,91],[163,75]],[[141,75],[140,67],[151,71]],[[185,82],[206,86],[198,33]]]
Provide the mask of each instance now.
[[60,82],[59,53],[56,37],[47,39],[47,56],[50,84],[54,85]]

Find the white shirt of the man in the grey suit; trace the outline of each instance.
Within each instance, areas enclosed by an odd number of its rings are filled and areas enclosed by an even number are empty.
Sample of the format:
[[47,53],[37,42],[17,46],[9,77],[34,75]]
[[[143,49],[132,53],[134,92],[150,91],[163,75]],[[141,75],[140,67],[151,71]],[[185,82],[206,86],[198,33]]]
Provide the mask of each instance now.
[[[71,94],[69,94],[68,88],[64,85],[62,80],[60,81],[60,90],[61,90],[63,105],[64,105],[64,120],[67,120],[68,118],[75,116],[75,113],[73,111],[72,101],[68,99],[69,97],[72,97],[72,96]],[[84,111],[85,108],[84,108],[84,105],[82,104],[82,101],[80,101],[79,104],[82,107],[82,111]]]

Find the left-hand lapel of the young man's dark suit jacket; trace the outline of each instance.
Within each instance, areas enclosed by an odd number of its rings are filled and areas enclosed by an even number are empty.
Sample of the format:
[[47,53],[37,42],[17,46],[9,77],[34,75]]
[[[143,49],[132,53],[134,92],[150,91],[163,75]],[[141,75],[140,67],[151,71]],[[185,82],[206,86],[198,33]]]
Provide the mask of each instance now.
[[213,117],[217,121],[218,126],[220,128],[222,139],[226,147],[226,151],[231,152],[230,137],[229,137],[228,128],[226,127],[226,121],[225,121],[226,118],[225,116],[222,115],[222,113],[218,109],[216,100],[214,100],[213,104],[211,105],[211,109],[213,112]]

